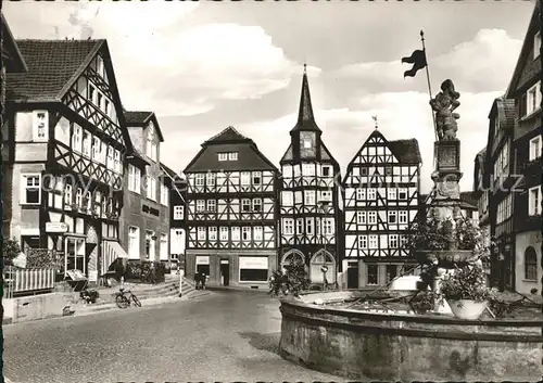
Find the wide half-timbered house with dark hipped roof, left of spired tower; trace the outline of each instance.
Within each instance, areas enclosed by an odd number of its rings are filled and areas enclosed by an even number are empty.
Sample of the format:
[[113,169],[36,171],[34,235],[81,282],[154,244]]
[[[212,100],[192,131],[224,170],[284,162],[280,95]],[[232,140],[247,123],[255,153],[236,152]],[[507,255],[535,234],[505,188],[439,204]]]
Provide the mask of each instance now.
[[202,144],[187,177],[186,270],[211,284],[266,286],[277,265],[278,170],[228,127]]

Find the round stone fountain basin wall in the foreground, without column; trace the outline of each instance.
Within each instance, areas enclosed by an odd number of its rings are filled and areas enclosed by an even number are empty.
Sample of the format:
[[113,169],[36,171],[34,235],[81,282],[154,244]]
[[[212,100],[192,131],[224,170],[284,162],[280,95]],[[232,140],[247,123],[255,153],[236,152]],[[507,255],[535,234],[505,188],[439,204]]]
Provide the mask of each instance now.
[[281,299],[281,355],[354,380],[531,382],[543,374],[543,320],[459,320],[312,304],[356,295]]

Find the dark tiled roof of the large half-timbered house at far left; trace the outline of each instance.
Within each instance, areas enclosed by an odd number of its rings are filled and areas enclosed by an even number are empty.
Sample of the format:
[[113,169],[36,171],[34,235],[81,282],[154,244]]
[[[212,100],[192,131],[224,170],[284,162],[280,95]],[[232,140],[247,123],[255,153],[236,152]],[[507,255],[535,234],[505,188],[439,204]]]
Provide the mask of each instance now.
[[27,73],[7,75],[7,99],[60,101],[105,40],[17,40]]

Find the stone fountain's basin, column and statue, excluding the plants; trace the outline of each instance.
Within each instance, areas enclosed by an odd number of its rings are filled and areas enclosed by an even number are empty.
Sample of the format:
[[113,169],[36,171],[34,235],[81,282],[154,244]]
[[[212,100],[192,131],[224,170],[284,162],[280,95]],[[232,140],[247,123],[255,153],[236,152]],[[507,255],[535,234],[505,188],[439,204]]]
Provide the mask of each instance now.
[[[458,181],[460,142],[456,138],[459,93],[451,80],[430,101],[435,111],[434,199],[430,215],[439,222],[460,215]],[[472,251],[418,251],[420,264],[433,265],[433,284],[456,266],[476,261]],[[305,367],[354,380],[379,381],[539,381],[543,320],[458,319],[452,315],[416,315],[352,309],[367,294],[315,292],[281,298],[280,354]],[[438,308],[440,314],[450,308]]]

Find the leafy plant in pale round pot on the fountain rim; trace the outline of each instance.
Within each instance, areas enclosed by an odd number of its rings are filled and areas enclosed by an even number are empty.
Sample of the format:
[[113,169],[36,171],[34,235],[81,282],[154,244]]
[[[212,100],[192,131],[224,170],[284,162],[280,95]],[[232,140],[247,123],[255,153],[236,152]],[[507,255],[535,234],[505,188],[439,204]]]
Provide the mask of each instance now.
[[495,298],[495,291],[487,286],[487,276],[480,263],[466,265],[443,277],[440,295],[454,316],[476,320]]

